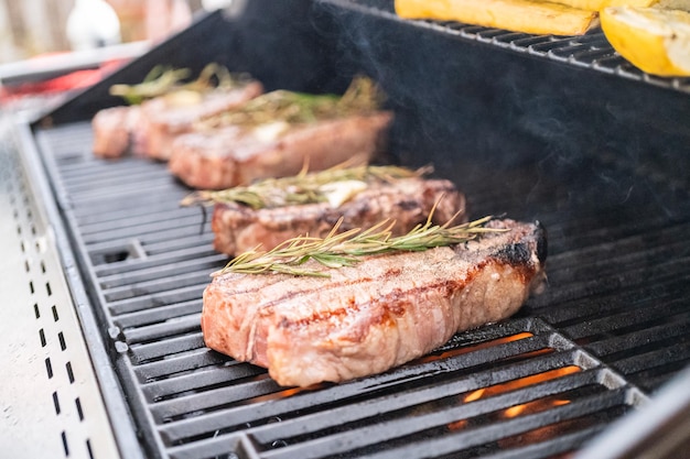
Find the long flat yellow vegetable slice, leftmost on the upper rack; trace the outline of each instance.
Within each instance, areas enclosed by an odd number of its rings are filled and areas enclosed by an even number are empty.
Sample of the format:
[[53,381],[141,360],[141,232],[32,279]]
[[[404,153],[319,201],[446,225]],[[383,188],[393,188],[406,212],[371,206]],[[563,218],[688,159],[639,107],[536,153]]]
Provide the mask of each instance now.
[[[568,0],[562,0],[568,1]],[[578,3],[601,1],[570,0]],[[597,24],[594,10],[538,0],[396,0],[405,19],[460,21],[514,32],[582,35]]]

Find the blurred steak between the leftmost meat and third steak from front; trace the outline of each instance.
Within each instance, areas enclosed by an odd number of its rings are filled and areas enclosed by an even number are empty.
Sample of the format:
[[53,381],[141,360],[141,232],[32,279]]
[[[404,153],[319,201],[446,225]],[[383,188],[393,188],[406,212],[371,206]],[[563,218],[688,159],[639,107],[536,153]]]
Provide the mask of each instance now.
[[155,160],[169,160],[174,139],[193,131],[197,121],[238,107],[261,92],[263,86],[252,80],[230,89],[176,91],[143,102],[143,153]]

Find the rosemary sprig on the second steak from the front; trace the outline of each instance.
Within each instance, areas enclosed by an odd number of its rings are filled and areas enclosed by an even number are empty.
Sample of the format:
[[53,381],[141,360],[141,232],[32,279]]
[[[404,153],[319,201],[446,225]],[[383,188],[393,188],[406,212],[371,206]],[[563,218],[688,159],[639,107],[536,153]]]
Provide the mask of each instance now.
[[328,199],[333,184],[338,182],[386,182],[400,178],[419,177],[429,174],[431,166],[410,170],[400,166],[354,166],[347,163],[325,171],[281,177],[266,178],[247,186],[237,186],[223,190],[200,190],[185,197],[182,206],[213,205],[216,203],[239,203],[252,209],[274,208],[289,205],[323,203]]

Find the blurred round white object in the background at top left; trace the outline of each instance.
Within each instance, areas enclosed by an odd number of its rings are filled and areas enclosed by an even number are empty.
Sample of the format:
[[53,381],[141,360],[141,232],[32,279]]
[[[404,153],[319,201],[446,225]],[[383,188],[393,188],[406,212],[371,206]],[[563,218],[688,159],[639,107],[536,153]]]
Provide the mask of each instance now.
[[67,40],[74,51],[118,44],[120,20],[105,0],[76,0],[67,17]]

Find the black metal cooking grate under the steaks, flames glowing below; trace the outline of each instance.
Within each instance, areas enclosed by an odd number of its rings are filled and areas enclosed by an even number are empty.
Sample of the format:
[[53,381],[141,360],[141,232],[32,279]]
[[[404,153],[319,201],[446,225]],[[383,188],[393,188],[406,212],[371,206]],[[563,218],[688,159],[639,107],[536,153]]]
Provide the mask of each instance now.
[[198,209],[179,207],[188,190],[163,164],[94,159],[90,135],[71,123],[37,141],[153,456],[559,457],[690,362],[682,194],[646,177],[628,189],[624,167],[596,160],[493,171],[490,182],[459,161],[453,178],[475,214],[546,225],[547,293],[390,372],[280,387],[203,345],[201,294],[226,259]]

